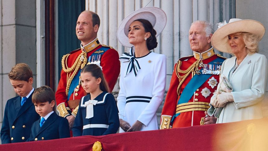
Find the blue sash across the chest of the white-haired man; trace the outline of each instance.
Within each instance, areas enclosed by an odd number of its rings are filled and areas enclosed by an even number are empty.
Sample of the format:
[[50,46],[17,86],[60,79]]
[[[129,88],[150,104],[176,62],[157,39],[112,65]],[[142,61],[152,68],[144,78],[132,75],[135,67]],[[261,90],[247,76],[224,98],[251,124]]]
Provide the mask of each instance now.
[[[214,62],[223,62],[223,61],[224,59],[217,57],[216,59],[209,62],[208,64],[213,64]],[[185,86],[184,90],[182,91],[177,105],[189,102],[190,98],[194,94],[194,91],[197,90],[201,85],[203,85],[203,83],[206,82],[209,77],[211,77],[211,74],[202,74],[202,72],[199,75],[195,74],[193,78],[189,81],[189,83]],[[175,114],[171,121],[173,121],[175,117],[179,116],[179,114],[180,113]]]

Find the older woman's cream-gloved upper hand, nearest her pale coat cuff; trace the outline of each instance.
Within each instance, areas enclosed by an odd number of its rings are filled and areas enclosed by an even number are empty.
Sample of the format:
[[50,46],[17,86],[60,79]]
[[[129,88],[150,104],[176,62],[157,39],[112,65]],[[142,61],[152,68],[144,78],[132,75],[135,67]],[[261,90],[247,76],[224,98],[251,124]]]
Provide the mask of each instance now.
[[234,101],[234,99],[231,92],[222,92],[215,100],[215,107],[224,107],[228,102],[232,101]]

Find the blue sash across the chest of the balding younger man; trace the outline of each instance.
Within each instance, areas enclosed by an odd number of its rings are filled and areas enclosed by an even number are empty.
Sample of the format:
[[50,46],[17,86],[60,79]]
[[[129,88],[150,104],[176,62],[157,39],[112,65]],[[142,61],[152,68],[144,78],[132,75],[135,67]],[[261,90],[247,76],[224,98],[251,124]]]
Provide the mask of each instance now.
[[[104,54],[104,52],[106,52],[108,49],[110,49],[110,48],[108,48],[108,47],[100,47],[99,49],[97,49],[96,51],[94,51],[93,52],[93,54],[92,55],[90,55],[89,56],[89,59],[88,59],[88,62],[89,62],[89,60],[90,61],[97,61],[98,60],[98,58],[97,58],[97,56],[98,55],[103,55]],[[98,52],[97,52],[98,51]],[[97,53],[96,53],[97,52]],[[92,59],[93,60],[92,60]],[[101,59],[100,59],[101,60]],[[78,83],[79,83],[79,76],[81,75],[81,69],[79,69],[79,71],[77,72],[77,74],[74,76],[74,79],[72,80],[72,82],[71,82],[71,84],[70,84],[70,88],[69,88],[69,92],[68,92],[68,95],[67,95],[67,100],[69,101],[69,99],[70,99],[70,96],[71,96],[71,94],[74,92],[74,89],[76,88],[76,86],[78,85]]]

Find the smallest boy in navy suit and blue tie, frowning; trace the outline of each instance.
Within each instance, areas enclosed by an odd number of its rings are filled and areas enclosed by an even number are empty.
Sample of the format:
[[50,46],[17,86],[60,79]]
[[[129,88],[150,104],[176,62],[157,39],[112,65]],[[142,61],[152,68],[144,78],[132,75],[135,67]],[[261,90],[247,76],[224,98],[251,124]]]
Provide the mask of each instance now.
[[41,118],[32,124],[29,141],[70,137],[69,122],[55,113],[55,93],[49,86],[37,88],[32,102]]

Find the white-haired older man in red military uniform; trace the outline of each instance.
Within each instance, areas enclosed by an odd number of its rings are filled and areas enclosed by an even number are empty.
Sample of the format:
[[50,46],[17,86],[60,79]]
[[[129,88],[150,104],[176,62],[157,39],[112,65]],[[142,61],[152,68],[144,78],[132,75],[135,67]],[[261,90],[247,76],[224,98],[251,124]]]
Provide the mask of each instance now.
[[206,21],[192,23],[189,42],[194,55],[180,58],[175,64],[161,114],[160,129],[200,125],[200,119],[209,109],[210,98],[217,89],[221,64],[225,59],[214,53],[211,37],[211,24]]

